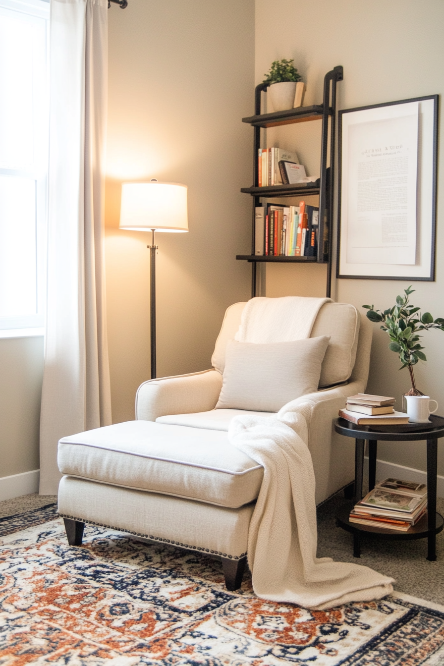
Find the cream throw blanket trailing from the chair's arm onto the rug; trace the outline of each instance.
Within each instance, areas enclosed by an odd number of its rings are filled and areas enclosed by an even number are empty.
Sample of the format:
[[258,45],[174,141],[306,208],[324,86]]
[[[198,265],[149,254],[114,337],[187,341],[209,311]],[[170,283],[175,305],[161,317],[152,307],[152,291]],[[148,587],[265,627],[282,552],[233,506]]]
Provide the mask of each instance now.
[[312,404],[281,418],[238,416],[233,446],[264,467],[248,532],[248,564],[258,597],[326,609],[389,594],[393,578],[358,564],[316,557],[315,479],[307,447]]

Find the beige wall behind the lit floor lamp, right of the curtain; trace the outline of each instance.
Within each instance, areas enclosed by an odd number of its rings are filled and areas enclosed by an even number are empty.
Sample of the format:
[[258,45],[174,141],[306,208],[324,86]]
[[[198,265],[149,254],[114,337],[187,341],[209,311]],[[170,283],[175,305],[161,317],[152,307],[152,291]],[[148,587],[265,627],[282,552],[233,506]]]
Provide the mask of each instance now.
[[250,295],[253,0],[131,0],[109,13],[107,293],[114,422],[150,376],[148,234],[118,230],[120,183],[188,185],[188,234],[156,235],[158,376],[210,367]]

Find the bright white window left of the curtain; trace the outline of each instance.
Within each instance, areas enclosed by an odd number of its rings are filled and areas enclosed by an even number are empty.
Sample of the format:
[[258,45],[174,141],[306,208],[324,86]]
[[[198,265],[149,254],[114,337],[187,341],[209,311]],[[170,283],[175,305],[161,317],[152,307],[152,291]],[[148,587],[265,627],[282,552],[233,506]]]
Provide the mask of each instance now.
[[[0,0],[0,336],[43,333],[49,3]],[[32,329],[32,330],[31,330]]]

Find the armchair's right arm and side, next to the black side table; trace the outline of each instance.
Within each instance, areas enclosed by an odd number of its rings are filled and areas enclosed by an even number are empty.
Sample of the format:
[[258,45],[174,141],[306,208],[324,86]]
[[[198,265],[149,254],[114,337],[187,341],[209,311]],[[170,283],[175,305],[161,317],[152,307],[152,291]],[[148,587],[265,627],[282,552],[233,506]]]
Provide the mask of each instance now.
[[316,503],[326,500],[354,478],[355,442],[353,438],[337,434],[333,421],[339,410],[345,407],[346,398],[364,390],[365,384],[361,381],[341,384],[292,400],[278,413],[280,418],[286,412],[297,411],[303,402],[312,405],[308,448],[316,478]]

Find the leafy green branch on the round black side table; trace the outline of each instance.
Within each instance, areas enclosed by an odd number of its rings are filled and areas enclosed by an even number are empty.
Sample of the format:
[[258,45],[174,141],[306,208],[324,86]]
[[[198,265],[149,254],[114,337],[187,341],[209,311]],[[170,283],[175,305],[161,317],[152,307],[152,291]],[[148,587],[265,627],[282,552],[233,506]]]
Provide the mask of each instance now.
[[422,336],[418,335],[418,331],[429,330],[429,328],[439,328],[444,331],[444,319],[441,317],[433,319],[430,312],[421,314],[419,312],[421,308],[415,308],[415,306],[409,304],[409,296],[414,291],[409,286],[404,290],[405,296],[397,296],[396,305],[383,312],[375,310],[373,305],[363,305],[362,307],[368,310],[367,318],[371,322],[382,322],[381,329],[390,338],[389,349],[395,354],[399,354],[402,363],[399,370],[409,368],[411,389],[406,395],[423,396],[424,394],[416,388],[415,376],[413,375],[413,366],[419,360],[427,361],[423,353],[424,348],[421,347],[419,342],[419,338]]

